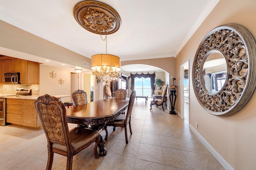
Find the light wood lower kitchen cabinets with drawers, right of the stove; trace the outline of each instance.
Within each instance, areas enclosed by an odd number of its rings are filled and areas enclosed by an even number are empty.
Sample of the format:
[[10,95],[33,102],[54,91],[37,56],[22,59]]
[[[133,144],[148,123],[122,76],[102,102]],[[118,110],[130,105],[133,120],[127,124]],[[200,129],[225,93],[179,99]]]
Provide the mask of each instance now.
[[8,123],[41,127],[40,118],[37,115],[35,100],[7,99],[6,117]]

